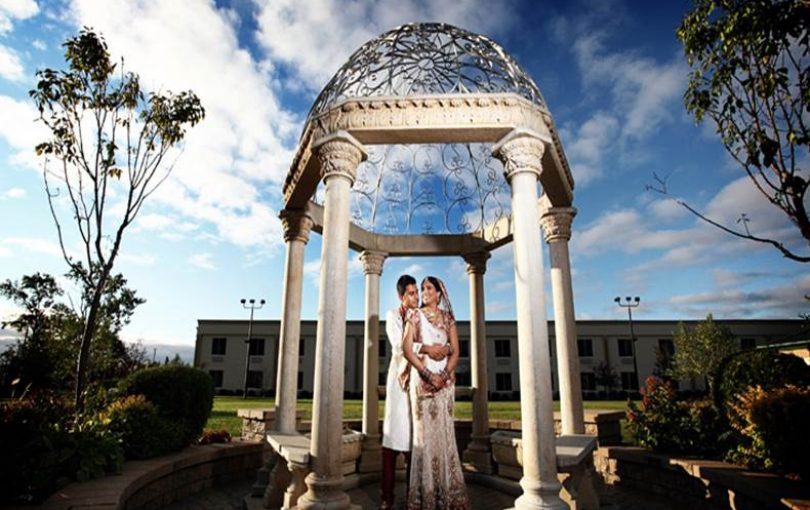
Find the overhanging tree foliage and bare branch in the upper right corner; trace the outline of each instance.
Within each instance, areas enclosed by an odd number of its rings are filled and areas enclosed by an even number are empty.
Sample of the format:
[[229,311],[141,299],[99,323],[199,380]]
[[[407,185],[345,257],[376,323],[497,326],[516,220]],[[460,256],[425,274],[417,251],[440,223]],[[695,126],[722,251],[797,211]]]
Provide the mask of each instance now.
[[[695,0],[677,35],[692,68],[684,94],[686,109],[698,123],[708,117],[716,124],[727,152],[752,185],[810,244],[808,28],[806,0]],[[771,244],[785,257],[810,262],[810,256],[751,232],[744,213],[740,229],[681,205],[728,233]]]

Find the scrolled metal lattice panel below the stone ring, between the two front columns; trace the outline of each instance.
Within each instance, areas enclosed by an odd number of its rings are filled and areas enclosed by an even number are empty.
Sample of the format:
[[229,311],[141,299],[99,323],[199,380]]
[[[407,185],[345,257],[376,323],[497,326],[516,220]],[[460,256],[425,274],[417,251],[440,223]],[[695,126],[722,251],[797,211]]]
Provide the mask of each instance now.
[[[509,216],[490,144],[372,145],[357,168],[351,220],[377,234],[467,234]],[[313,197],[323,204],[323,183]]]

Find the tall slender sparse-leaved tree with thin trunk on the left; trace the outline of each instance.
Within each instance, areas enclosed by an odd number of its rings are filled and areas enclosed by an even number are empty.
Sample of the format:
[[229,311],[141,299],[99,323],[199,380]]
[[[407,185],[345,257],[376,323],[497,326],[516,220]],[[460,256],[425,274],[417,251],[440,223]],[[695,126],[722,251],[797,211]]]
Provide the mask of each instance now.
[[[46,156],[51,215],[70,274],[82,288],[75,388],[81,411],[91,344],[124,232],[171,172],[170,150],[205,110],[191,91],[145,95],[138,76],[125,72],[123,61],[119,69],[104,39],[90,29],[63,46],[68,69],[37,71],[30,95],[50,131],[36,151]],[[60,186],[69,211],[56,203]],[[75,227],[79,254],[65,248],[66,222]]]

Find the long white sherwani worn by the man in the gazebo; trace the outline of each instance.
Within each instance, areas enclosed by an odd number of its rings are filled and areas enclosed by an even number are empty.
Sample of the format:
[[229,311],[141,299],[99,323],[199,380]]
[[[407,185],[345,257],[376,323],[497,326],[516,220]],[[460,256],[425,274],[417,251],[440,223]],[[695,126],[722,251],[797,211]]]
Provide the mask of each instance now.
[[[385,333],[391,345],[391,362],[385,384],[383,447],[408,452],[411,451],[411,406],[408,394],[399,385],[399,374],[408,366],[408,360],[402,355],[402,330],[399,308],[389,310],[385,316]],[[414,352],[418,352],[418,348],[418,344],[414,344]]]

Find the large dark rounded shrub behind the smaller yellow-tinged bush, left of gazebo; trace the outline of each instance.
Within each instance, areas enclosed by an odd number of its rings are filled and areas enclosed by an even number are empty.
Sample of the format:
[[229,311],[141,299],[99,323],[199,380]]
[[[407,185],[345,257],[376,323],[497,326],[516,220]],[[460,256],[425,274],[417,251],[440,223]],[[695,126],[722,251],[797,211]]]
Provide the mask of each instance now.
[[175,448],[194,443],[214,404],[211,376],[184,365],[163,365],[134,372],[121,382],[123,395],[143,395],[177,431]]

